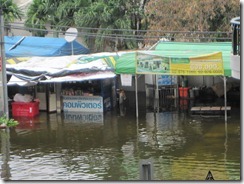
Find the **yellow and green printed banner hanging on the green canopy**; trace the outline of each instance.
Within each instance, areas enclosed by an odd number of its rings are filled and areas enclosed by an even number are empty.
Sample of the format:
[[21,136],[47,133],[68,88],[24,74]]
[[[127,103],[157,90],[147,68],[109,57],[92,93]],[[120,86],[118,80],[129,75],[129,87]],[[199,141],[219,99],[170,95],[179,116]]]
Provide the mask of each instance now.
[[179,58],[137,52],[136,61],[138,74],[224,75],[222,52]]

